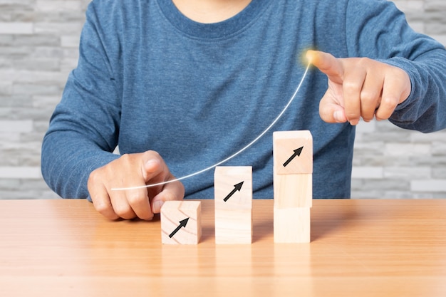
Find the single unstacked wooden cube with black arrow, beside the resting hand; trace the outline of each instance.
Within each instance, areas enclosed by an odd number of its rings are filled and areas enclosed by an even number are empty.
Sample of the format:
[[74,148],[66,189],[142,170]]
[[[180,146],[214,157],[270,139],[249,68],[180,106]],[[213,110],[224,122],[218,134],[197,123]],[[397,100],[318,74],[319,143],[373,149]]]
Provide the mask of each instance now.
[[166,201],[161,207],[162,244],[198,244],[202,236],[202,202]]

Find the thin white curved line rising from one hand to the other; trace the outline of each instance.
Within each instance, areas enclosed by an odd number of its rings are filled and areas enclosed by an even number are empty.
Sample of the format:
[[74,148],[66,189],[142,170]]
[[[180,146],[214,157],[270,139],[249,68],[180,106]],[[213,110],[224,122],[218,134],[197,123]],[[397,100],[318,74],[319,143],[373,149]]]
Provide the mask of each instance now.
[[161,186],[163,184],[170,184],[171,182],[177,182],[179,180],[182,179],[187,179],[189,177],[193,177],[195,175],[198,174],[202,174],[203,172],[206,172],[207,170],[212,170],[212,168],[217,167],[219,165],[222,165],[224,162],[227,162],[229,160],[231,160],[232,158],[236,157],[237,155],[239,155],[240,153],[242,153],[244,150],[247,150],[248,147],[250,147],[251,145],[254,145],[254,142],[256,142],[257,140],[259,140],[263,135],[266,134],[266,132],[268,132],[271,127],[273,127],[277,121],[281,118],[282,115],[284,115],[284,113],[286,112],[286,110],[289,108],[289,105],[291,105],[291,103],[293,102],[294,98],[296,98],[297,93],[299,93],[299,90],[301,88],[302,83],[304,83],[304,80],[306,78],[306,74],[308,73],[308,68],[310,68],[311,63],[308,63],[308,65],[306,66],[304,75],[301,78],[301,82],[299,83],[299,85],[296,88],[296,91],[294,92],[294,94],[291,96],[291,99],[289,100],[288,103],[286,103],[284,110],[281,111],[281,113],[279,113],[279,115],[277,116],[277,118],[273,121],[273,123],[271,123],[271,125],[269,125],[264,132],[261,132],[261,134],[259,136],[257,136],[254,140],[252,140],[251,142],[249,142],[248,145],[246,145],[245,147],[242,148],[242,150],[239,150],[238,152],[235,152],[233,155],[230,155],[229,157],[227,157],[226,159],[218,162],[217,164],[214,164],[212,166],[209,166],[207,168],[204,168],[203,170],[199,170],[197,172],[191,173],[191,174],[187,174],[184,177],[179,177],[176,179],[170,179],[167,180],[165,182],[158,182],[156,184],[146,184],[145,186],[138,186],[138,187],[121,187],[121,188],[112,188],[113,191],[123,191],[123,190],[127,190],[127,189],[142,189],[142,188],[148,188],[148,187],[156,187],[156,186]]

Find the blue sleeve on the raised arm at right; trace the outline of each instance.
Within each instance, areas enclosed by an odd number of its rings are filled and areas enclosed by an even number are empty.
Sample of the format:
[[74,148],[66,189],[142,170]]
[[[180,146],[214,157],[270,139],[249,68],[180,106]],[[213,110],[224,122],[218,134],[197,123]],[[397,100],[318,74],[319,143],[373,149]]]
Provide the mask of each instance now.
[[410,130],[434,132],[446,127],[446,50],[416,33],[395,4],[351,0],[346,14],[349,56],[365,56],[402,68],[411,93],[390,122]]

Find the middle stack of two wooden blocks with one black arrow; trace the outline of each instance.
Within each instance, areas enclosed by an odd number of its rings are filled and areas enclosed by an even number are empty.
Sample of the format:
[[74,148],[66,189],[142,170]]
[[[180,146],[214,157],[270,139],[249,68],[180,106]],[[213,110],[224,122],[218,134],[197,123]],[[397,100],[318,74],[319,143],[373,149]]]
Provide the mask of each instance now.
[[216,167],[214,204],[215,243],[251,244],[252,167]]

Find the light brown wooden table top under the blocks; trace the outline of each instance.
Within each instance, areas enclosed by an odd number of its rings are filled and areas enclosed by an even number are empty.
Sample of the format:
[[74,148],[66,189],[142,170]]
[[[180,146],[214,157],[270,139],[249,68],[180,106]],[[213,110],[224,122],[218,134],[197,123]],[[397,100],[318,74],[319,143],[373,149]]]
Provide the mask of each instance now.
[[0,201],[0,296],[446,296],[446,199],[315,200],[311,244],[162,245],[160,221],[112,222],[85,200]]

